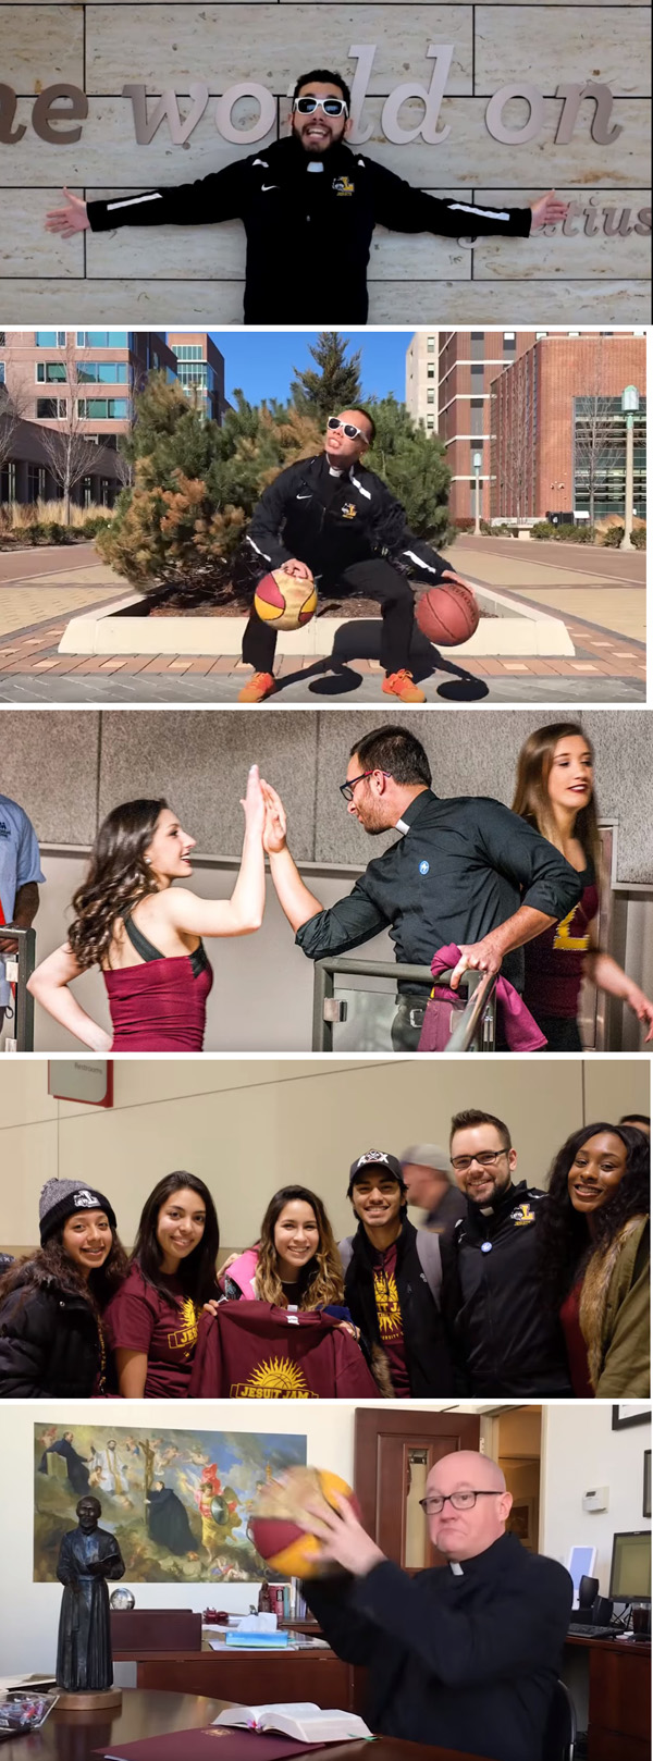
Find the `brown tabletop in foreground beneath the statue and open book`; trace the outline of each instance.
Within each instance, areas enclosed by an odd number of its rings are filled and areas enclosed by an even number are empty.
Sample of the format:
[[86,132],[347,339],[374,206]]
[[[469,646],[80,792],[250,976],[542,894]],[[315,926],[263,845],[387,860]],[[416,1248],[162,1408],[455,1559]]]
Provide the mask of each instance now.
[[[134,1743],[139,1736],[162,1736],[165,1731],[190,1731],[211,1724],[225,1701],[197,1698],[195,1694],[146,1692],[123,1689],[121,1712],[113,1717],[83,1717],[79,1712],[49,1713],[42,1731],[16,1736],[0,1745],[2,1761],[92,1761],[95,1749],[113,1749]],[[484,1761],[482,1756],[465,1756],[458,1749],[431,1749],[426,1743],[401,1743],[394,1736],[380,1736],[371,1750],[375,1761]],[[370,1745],[343,1743],[338,1749],[315,1749],[312,1761],[370,1761]],[[95,1756],[97,1761],[97,1756]]]

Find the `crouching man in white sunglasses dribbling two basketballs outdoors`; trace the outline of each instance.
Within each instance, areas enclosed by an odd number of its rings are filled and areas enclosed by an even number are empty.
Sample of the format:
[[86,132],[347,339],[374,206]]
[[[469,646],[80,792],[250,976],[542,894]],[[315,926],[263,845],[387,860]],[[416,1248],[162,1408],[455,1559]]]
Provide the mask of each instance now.
[[[283,567],[297,579],[315,578],[324,592],[357,593],[378,599],[382,606],[380,664],[385,669],[382,690],[401,703],[424,703],[424,692],[410,673],[414,634],[414,592],[410,574],[433,586],[459,581],[429,544],[415,539],[407,527],[401,502],[380,477],[363,465],[375,438],[370,410],[340,410],[329,416],[324,453],[299,460],[282,470],[264,490],[253,509],[245,539],[245,556],[236,579],[252,585],[262,574]],[[243,636],[243,660],[253,676],[239,694],[239,703],[262,703],[276,690],[273,674],[276,630],[252,608]]]

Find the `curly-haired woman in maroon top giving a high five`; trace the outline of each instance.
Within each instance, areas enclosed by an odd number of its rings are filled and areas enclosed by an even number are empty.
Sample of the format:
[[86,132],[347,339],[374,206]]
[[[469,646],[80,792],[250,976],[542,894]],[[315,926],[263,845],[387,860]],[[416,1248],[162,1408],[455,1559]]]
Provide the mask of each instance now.
[[[264,801],[259,770],[248,775],[245,840],[231,898],[199,898],[172,886],[192,873],[195,840],[162,799],[127,801],[107,815],[88,875],[72,905],[67,942],[30,979],[55,1021],[93,1051],[201,1051],[213,972],[202,935],[252,935],[266,902]],[[113,1034],[70,991],[100,967]]]

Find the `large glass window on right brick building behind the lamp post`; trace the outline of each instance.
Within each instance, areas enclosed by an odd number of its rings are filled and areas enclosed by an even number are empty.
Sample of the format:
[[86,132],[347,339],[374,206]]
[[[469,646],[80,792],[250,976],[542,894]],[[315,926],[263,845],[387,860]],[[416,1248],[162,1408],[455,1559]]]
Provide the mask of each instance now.
[[[621,398],[574,398],[574,509],[593,519],[623,514],[627,419]],[[646,398],[634,419],[634,511],[646,518]]]

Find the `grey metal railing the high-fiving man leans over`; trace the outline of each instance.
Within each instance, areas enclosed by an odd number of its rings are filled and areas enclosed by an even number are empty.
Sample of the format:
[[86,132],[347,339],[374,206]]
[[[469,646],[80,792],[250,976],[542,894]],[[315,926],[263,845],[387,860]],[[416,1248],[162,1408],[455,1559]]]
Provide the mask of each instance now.
[[[333,1051],[333,1034],[338,1021],[347,1021],[347,998],[336,997],[338,977],[394,979],[398,984],[422,984],[424,1002],[433,988],[447,990],[452,967],[442,972],[433,986],[431,967],[407,965],[398,960],[317,960],[313,986],[313,1051]],[[496,1028],[496,977],[489,972],[463,972],[461,993],[466,1006],[451,1034],[445,1053],[493,1051]]]

